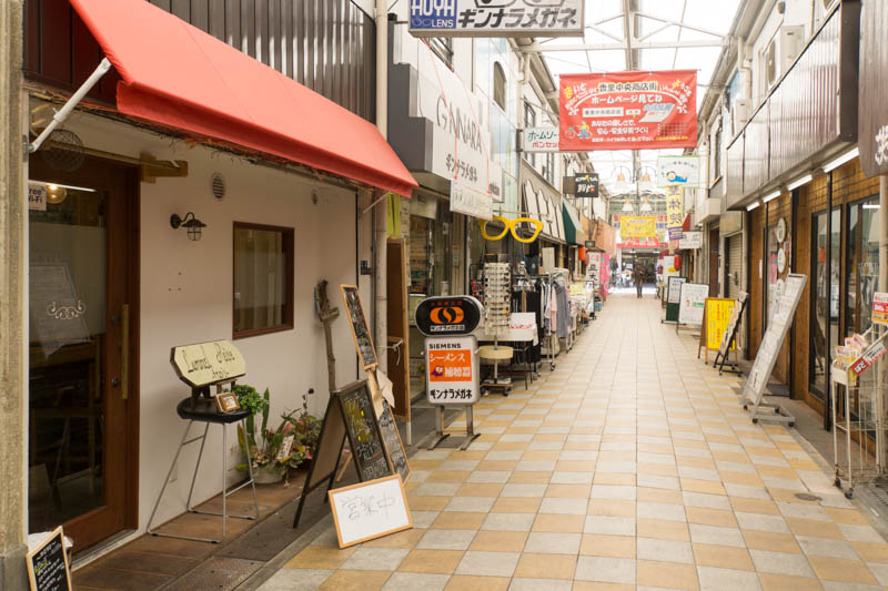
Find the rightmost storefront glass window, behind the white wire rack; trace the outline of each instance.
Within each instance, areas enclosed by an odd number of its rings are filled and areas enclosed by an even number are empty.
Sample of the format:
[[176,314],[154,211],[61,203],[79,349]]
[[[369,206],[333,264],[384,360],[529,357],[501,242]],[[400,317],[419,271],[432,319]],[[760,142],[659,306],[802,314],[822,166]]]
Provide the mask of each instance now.
[[865,333],[872,324],[872,294],[879,283],[879,200],[848,207],[848,286],[846,336]]

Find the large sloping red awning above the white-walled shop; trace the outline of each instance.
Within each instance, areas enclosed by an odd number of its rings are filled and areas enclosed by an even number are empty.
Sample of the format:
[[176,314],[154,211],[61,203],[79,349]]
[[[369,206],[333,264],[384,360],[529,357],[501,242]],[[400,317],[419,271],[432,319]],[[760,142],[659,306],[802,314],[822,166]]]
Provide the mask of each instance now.
[[123,79],[121,113],[411,195],[376,128],[144,0],[70,0]]

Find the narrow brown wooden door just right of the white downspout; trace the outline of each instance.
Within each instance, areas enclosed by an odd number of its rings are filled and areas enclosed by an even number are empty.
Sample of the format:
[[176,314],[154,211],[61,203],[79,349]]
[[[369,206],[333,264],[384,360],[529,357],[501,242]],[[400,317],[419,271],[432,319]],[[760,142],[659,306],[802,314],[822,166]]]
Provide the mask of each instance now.
[[407,262],[403,238],[389,238],[386,252],[386,294],[389,298],[389,378],[394,384],[395,415],[410,422],[410,332],[407,328]]

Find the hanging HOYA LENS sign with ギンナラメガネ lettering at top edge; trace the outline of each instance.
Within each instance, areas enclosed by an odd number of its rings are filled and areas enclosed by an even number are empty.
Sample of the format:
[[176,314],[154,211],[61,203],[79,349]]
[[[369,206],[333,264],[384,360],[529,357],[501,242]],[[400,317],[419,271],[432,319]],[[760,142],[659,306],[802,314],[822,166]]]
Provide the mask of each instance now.
[[583,37],[584,0],[410,0],[414,37]]

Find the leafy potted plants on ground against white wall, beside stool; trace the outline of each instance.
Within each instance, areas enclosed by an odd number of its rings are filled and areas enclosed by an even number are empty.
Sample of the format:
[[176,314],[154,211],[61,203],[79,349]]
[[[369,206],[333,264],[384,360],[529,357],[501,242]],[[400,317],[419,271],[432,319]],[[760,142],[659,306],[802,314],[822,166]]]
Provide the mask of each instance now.
[[[313,390],[309,390],[312,394]],[[307,412],[307,395],[303,395],[302,409],[284,412],[276,429],[269,429],[270,395],[268,388],[260,396],[249,385],[235,386],[234,393],[241,408],[251,410],[246,419],[246,429],[238,426],[238,440],[241,449],[250,450],[253,478],[259,483],[279,482],[290,469],[297,468],[306,459],[311,459],[314,444],[321,431],[321,421]],[[256,416],[262,421],[256,429]],[[238,466],[246,471],[246,463]]]

